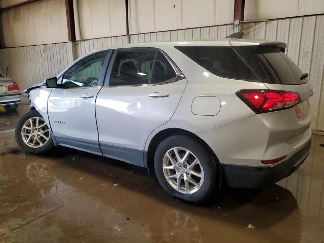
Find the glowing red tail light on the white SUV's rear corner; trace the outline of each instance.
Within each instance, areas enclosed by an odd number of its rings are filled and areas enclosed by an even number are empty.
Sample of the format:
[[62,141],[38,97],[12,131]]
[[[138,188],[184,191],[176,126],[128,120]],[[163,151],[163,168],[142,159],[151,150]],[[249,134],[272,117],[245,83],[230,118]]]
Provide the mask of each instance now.
[[298,93],[282,90],[239,90],[236,95],[257,114],[288,109],[301,101]]

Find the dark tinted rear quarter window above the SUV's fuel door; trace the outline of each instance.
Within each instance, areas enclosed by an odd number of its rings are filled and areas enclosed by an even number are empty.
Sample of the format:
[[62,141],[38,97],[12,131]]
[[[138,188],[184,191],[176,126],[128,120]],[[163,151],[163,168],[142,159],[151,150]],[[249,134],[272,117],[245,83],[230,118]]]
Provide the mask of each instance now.
[[254,82],[259,81],[232,47],[181,46],[175,48],[217,76]]

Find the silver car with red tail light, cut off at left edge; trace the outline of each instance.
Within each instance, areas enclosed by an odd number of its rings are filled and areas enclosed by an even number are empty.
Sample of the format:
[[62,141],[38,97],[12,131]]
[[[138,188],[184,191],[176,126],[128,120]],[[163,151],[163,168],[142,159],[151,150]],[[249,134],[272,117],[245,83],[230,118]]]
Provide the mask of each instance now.
[[21,101],[19,85],[10,77],[0,72],[0,106],[7,111],[16,110]]

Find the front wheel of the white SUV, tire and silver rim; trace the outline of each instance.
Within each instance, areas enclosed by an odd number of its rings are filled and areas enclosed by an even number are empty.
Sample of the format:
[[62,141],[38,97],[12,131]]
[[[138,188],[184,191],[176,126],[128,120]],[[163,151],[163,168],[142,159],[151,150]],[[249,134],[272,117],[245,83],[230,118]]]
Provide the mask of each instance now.
[[[34,128],[37,126],[36,125],[37,119],[38,119],[39,129],[35,130]],[[33,123],[32,126],[30,126],[30,120],[32,120],[32,123]],[[29,123],[29,125],[26,125],[24,128],[24,131],[23,131],[23,126],[25,123],[27,123],[27,124]],[[43,125],[43,124],[45,124],[45,125]],[[27,127],[30,127],[33,129],[26,129]],[[41,132],[39,132],[39,131],[41,131]],[[30,138],[29,142],[28,142],[28,140],[29,140],[30,136],[28,136],[28,135],[23,136],[22,135],[23,132],[24,132],[24,134],[31,134],[31,138]],[[39,134],[39,137],[37,137],[37,139],[35,139],[35,137],[38,136],[38,134]],[[26,113],[18,120],[16,130],[15,130],[15,137],[16,137],[16,141],[17,141],[19,147],[26,153],[44,154],[54,146],[53,141],[51,139],[50,130],[48,129],[48,125],[43,120],[43,117],[41,116],[41,114],[39,114],[36,110],[32,110],[32,111]],[[46,140],[47,137],[48,137],[48,139]],[[24,141],[24,139],[27,141]],[[36,140],[35,143],[33,143],[34,140]],[[29,144],[29,146],[27,145],[26,142]],[[30,143],[32,143],[32,144],[30,144]],[[44,144],[42,145],[42,143],[44,143]],[[31,147],[31,145],[33,147]]]

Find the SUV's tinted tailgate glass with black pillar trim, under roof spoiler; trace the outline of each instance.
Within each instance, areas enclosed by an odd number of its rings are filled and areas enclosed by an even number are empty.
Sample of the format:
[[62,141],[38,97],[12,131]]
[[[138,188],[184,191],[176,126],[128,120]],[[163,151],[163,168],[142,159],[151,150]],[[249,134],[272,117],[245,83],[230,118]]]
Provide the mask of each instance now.
[[298,85],[303,72],[275,45],[233,46],[263,83]]

